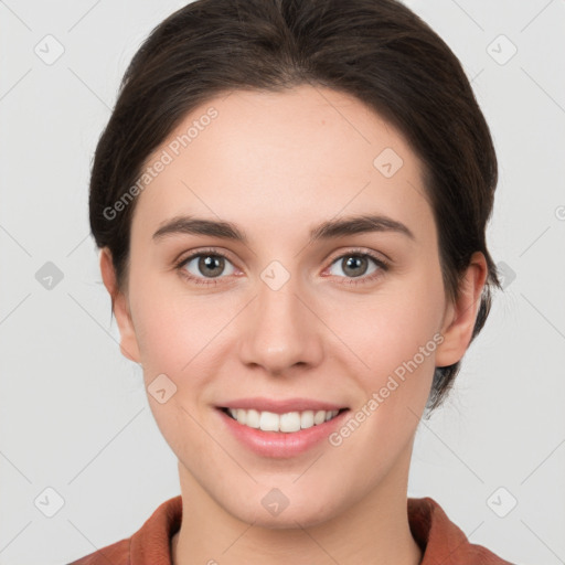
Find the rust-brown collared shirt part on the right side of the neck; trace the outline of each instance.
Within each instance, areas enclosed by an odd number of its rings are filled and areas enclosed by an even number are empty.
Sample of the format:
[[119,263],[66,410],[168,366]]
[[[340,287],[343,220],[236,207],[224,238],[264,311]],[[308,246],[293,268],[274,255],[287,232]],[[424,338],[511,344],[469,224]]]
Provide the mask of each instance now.
[[422,547],[420,565],[512,565],[482,545],[470,543],[461,529],[431,498],[408,498],[411,531]]

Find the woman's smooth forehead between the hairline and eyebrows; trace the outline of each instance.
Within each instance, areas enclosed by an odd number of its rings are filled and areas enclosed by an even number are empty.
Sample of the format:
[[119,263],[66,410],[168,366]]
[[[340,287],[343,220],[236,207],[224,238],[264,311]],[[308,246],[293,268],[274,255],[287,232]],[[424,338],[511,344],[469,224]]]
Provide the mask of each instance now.
[[[430,228],[422,163],[404,137],[354,97],[322,87],[234,90],[202,104],[153,151],[159,167],[134,224],[180,214],[248,231],[381,213]],[[316,217],[315,217],[316,216]],[[431,226],[434,227],[434,226]]]

